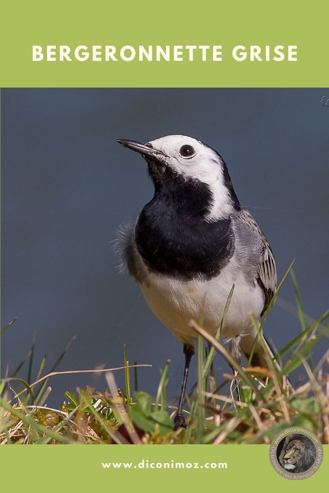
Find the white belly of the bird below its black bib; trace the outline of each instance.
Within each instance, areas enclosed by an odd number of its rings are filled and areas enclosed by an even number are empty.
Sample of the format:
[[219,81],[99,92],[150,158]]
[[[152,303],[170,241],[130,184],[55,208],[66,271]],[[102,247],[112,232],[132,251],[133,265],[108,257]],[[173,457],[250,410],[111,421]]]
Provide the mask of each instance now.
[[238,269],[225,268],[210,281],[177,281],[149,274],[140,289],[156,317],[183,343],[196,337],[189,326],[191,319],[199,321],[203,309],[203,326],[215,335],[223,318],[227,297],[235,284],[231,304],[222,333],[224,339],[248,332],[250,312],[259,317],[264,298],[258,285],[248,283]]

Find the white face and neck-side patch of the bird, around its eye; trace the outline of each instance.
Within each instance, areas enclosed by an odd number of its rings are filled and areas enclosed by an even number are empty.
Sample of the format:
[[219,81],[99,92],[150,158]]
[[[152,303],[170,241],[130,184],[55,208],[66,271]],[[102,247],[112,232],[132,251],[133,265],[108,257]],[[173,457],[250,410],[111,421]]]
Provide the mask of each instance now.
[[232,211],[231,196],[224,183],[223,161],[217,152],[185,135],[167,135],[148,144],[163,153],[157,156],[163,164],[180,175],[209,185],[214,199],[209,220],[216,220]]

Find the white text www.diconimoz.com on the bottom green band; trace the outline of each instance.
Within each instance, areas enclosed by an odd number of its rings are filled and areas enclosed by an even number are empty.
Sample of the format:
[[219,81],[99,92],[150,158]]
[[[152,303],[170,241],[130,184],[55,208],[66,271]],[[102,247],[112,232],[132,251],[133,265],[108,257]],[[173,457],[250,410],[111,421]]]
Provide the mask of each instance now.
[[227,469],[226,462],[151,462],[142,459],[137,464],[134,462],[102,462],[103,469]]

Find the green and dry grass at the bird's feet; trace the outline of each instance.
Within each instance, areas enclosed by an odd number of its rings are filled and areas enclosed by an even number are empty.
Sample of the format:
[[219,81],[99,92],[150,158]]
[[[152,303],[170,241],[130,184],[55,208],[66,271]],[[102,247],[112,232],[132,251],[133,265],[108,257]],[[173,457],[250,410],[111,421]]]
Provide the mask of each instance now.
[[[324,322],[329,313],[314,321],[304,314],[291,268],[292,265],[279,284],[278,291],[290,273],[296,297],[296,308],[292,311],[299,320],[301,332],[276,356],[280,360],[283,356],[285,361],[281,371],[269,357],[267,368],[251,368],[250,365],[243,368],[220,342],[234,287],[216,337],[204,331],[202,316],[198,323],[191,321],[196,331],[198,374],[195,391],[186,399],[184,413],[188,426],[185,430],[172,430],[176,400],[170,399],[167,394],[170,360],[161,371],[154,397],[138,389],[139,367],[150,365],[129,365],[125,346],[120,368],[56,371],[69,350],[70,341],[49,373],[44,374],[46,356],[41,360],[35,369],[37,378],[32,381],[34,337],[31,350],[18,368],[10,376],[6,374],[1,381],[0,443],[270,443],[278,431],[287,426],[304,426],[314,431],[323,443],[328,443],[329,375],[325,373],[325,365],[329,363],[329,326]],[[260,327],[251,314],[257,331],[263,328],[272,306],[273,303]],[[3,329],[3,337],[6,337],[7,330],[15,330],[15,325],[12,328],[14,322]],[[208,343],[206,347],[205,340]],[[318,344],[324,347],[324,351],[314,366],[312,351]],[[229,371],[215,379],[213,358],[216,352],[236,369],[242,402],[235,400],[235,381]],[[27,378],[21,376],[25,367]],[[307,377],[291,390],[286,384],[285,375],[302,367]],[[147,371],[154,370],[148,368]],[[67,391],[57,409],[47,407],[51,392],[49,383],[56,385],[56,375],[90,372],[105,373],[105,390],[87,387],[75,393]],[[118,388],[115,383],[117,372],[124,373],[124,389]],[[223,388],[227,387],[227,383],[230,384],[230,391],[225,393]]]

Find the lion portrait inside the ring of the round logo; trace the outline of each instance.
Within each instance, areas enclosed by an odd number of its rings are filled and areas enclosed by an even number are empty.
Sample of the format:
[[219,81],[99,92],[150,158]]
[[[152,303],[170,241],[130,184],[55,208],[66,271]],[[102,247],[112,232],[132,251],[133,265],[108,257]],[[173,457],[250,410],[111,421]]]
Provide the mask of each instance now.
[[313,465],[315,456],[315,447],[307,436],[292,434],[284,439],[279,462],[290,472],[304,472]]

